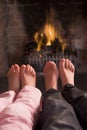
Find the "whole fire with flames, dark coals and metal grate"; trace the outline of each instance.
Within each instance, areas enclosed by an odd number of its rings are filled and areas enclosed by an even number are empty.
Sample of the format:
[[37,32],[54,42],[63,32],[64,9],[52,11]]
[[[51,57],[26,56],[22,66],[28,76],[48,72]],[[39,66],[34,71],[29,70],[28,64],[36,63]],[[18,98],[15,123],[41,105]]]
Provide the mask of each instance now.
[[34,40],[24,47],[24,63],[32,65],[36,72],[42,72],[47,61],[54,61],[58,65],[63,57],[69,58],[75,65],[76,50],[65,40],[60,29],[50,21],[36,32]]

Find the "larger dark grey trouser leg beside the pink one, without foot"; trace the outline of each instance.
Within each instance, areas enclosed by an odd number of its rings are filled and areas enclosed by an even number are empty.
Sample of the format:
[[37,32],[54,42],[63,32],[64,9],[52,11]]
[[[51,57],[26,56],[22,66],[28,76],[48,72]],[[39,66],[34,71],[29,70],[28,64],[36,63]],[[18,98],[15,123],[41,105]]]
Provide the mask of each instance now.
[[49,90],[43,97],[39,118],[41,130],[82,130],[73,108],[56,90]]

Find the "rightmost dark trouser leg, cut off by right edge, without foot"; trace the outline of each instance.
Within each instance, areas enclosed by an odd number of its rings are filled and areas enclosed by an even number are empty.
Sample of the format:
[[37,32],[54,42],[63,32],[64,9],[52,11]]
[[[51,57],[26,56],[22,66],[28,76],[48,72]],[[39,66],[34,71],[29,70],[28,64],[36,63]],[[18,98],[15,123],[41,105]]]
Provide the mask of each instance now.
[[71,84],[66,84],[62,95],[73,106],[80,124],[87,130],[87,93]]

